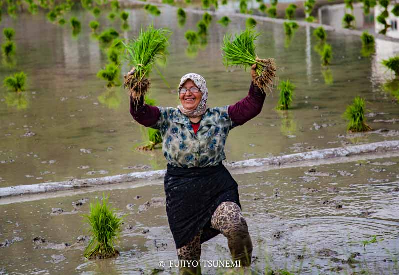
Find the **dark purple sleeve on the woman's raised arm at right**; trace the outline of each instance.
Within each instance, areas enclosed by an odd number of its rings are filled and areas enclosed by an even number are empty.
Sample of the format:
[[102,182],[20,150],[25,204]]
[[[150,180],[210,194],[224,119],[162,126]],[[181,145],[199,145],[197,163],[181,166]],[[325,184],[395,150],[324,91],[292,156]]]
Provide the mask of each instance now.
[[228,113],[233,123],[243,125],[257,116],[262,110],[265,97],[266,94],[251,82],[248,95],[228,108]]

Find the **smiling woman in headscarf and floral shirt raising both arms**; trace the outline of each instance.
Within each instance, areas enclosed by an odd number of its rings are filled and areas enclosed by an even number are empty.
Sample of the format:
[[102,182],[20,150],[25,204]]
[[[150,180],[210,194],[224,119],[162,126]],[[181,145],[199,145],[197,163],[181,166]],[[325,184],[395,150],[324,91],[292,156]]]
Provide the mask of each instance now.
[[[254,84],[251,67],[248,95],[234,105],[208,108],[205,79],[188,73],[180,79],[180,105],[155,107],[144,98],[130,97],[130,113],[144,126],[158,129],[168,161],[164,179],[166,213],[181,261],[200,260],[201,243],[219,233],[228,240],[234,261],[251,264],[252,242],[236,181],[224,167],[224,145],[229,131],[262,110],[265,93]],[[192,198],[196,198],[193,200]],[[187,262],[180,274],[200,274]]]

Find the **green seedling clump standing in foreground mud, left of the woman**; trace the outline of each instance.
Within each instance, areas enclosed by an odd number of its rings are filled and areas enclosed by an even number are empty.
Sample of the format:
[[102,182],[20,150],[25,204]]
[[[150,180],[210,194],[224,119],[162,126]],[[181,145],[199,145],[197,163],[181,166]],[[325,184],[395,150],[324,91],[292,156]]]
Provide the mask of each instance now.
[[96,204],[90,203],[90,214],[83,215],[90,226],[91,239],[84,251],[87,259],[109,258],[119,254],[115,249],[115,241],[119,237],[123,218],[118,218],[116,209],[108,204],[104,197],[102,204],[97,199]]

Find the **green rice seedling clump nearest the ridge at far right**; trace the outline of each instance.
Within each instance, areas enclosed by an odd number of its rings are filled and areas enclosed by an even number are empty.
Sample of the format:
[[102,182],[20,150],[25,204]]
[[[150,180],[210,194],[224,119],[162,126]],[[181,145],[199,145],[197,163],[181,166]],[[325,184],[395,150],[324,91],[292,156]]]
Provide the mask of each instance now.
[[343,117],[348,120],[347,131],[363,132],[372,128],[366,124],[365,101],[363,98],[355,97],[353,103],[347,106]]

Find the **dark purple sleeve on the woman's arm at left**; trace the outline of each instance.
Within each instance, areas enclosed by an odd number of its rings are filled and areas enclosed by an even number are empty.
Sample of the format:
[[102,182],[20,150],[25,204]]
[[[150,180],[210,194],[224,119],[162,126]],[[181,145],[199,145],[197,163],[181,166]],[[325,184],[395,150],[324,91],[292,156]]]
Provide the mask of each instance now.
[[160,116],[158,107],[145,104],[144,98],[140,98],[137,107],[130,97],[130,114],[141,125],[146,127],[154,125]]

